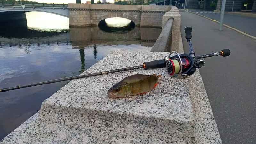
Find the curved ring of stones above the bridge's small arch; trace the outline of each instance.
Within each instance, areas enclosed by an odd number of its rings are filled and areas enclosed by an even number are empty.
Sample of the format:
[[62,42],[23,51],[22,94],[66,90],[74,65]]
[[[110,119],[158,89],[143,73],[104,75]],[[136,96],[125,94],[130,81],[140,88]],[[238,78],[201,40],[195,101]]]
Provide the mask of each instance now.
[[135,23],[135,25],[140,25],[140,22],[136,19],[136,17],[130,16],[130,15],[124,14],[124,13],[108,13],[107,15],[100,17],[97,20],[97,22],[98,22],[97,24],[99,24],[101,20],[105,20],[108,18],[115,18],[115,17],[126,18],[126,19],[133,21]]

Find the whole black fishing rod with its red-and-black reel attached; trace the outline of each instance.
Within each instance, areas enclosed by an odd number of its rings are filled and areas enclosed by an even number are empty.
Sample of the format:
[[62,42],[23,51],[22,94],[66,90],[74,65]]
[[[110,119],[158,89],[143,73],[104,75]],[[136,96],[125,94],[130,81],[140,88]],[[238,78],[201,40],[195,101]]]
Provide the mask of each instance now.
[[[144,62],[142,65],[138,65],[138,66],[114,69],[114,70],[103,71],[103,72],[87,74],[87,75],[70,76],[70,77],[66,77],[66,78],[60,78],[60,79],[55,79],[55,80],[50,80],[50,81],[45,81],[45,82],[40,82],[40,83],[35,83],[35,84],[28,84],[28,85],[23,85],[23,86],[16,86],[16,87],[11,87],[11,88],[3,88],[3,89],[0,89],[0,92],[6,92],[6,91],[10,91],[10,90],[16,90],[16,89],[32,87],[32,86],[37,86],[37,85],[43,85],[43,84],[57,83],[57,82],[85,78],[85,77],[90,77],[90,76],[98,76],[98,75],[116,73],[116,72],[121,72],[121,71],[129,71],[129,70],[140,69],[140,68],[144,68],[145,70],[147,70],[150,68],[166,67],[167,73],[169,75],[178,74],[179,78],[185,78],[187,76],[194,74],[194,72],[196,71],[196,68],[201,68],[202,66],[204,66],[204,60],[199,60],[200,58],[207,58],[207,57],[213,57],[213,56],[226,57],[226,56],[230,55],[229,49],[223,49],[220,52],[195,56],[195,52],[192,49],[192,44],[190,42],[190,39],[192,38],[191,31],[192,31],[192,27],[185,28],[186,39],[189,42],[189,46],[190,46],[189,55],[188,54],[178,54],[177,52],[172,51],[167,57],[165,57],[162,60],[153,60],[150,62]],[[173,52],[176,53],[177,55],[170,57]]]

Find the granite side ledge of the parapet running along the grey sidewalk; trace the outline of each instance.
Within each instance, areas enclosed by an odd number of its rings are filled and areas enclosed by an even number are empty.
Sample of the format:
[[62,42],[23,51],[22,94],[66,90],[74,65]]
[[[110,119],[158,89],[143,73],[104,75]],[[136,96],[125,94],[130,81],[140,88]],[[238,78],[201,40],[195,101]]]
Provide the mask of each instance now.
[[[181,31],[179,53],[184,53]],[[222,140],[199,69],[196,69],[195,74],[187,78],[196,123],[195,140],[197,142],[221,144]]]

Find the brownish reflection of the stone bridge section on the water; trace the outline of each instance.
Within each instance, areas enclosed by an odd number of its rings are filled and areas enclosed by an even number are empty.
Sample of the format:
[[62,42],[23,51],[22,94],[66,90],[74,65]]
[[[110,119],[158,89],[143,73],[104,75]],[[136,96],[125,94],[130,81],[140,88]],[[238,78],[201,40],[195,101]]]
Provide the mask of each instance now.
[[98,27],[70,28],[71,44],[74,47],[91,44],[130,45],[152,47],[161,33],[159,28],[135,27],[126,33],[109,33]]

